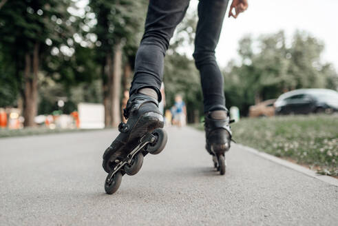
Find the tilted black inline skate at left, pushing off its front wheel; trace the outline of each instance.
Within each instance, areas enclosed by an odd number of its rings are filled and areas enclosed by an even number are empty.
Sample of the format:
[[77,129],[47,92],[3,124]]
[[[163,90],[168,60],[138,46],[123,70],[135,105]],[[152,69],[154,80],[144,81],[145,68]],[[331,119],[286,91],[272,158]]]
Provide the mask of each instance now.
[[128,119],[127,123],[120,123],[120,134],[103,154],[103,169],[108,173],[105,180],[107,194],[117,191],[124,174],[138,173],[145,155],[159,154],[167,143],[167,133],[162,130],[163,116],[156,99],[133,94],[123,116]]

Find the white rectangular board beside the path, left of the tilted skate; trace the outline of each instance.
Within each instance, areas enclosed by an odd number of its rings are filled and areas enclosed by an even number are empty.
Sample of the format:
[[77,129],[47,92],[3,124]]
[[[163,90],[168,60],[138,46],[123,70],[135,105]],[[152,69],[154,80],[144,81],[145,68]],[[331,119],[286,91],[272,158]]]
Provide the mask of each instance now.
[[103,129],[105,127],[105,107],[101,103],[79,103],[78,119],[81,129]]

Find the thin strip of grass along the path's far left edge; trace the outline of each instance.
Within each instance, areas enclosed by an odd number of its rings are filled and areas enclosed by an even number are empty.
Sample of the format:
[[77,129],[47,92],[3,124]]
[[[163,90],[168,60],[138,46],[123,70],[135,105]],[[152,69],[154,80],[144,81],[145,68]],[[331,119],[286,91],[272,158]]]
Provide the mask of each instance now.
[[41,134],[57,134],[61,132],[80,132],[88,131],[81,129],[54,129],[50,130],[47,127],[33,127],[25,128],[22,130],[9,130],[9,129],[0,129],[0,138],[3,137],[12,137],[12,136],[32,136],[32,135],[41,135]]

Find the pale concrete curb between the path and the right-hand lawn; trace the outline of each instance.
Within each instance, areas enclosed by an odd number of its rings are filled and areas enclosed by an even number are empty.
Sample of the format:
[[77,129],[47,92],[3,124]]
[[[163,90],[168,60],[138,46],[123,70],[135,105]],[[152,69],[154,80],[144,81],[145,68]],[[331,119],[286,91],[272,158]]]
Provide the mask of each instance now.
[[271,154],[266,154],[265,152],[260,152],[258,150],[255,150],[252,147],[247,147],[245,145],[241,145],[241,144],[238,144],[238,143],[236,145],[241,147],[242,149],[246,150],[247,152],[251,152],[252,154],[255,154],[257,156],[265,158],[268,161],[272,161],[272,162],[277,163],[279,165],[283,165],[284,167],[288,167],[289,169],[295,170],[297,172],[301,172],[302,174],[306,174],[307,176],[316,178],[320,181],[324,181],[326,183],[329,183],[330,185],[335,185],[335,186],[338,187],[338,180],[336,178],[332,177],[332,176],[317,174],[315,171],[309,170],[306,167],[303,167],[301,165],[297,165],[295,163],[291,163],[291,162],[286,161],[282,158],[277,158],[277,157],[275,157]]

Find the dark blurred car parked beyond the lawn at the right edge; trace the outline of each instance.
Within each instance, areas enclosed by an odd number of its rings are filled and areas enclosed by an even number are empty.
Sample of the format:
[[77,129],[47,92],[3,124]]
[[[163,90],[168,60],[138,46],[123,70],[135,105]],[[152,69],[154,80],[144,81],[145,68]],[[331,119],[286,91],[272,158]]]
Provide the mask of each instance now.
[[338,111],[338,92],[302,89],[286,92],[275,102],[275,114],[310,114]]

